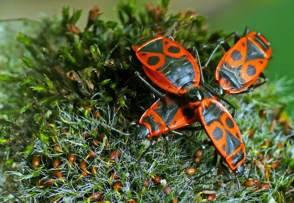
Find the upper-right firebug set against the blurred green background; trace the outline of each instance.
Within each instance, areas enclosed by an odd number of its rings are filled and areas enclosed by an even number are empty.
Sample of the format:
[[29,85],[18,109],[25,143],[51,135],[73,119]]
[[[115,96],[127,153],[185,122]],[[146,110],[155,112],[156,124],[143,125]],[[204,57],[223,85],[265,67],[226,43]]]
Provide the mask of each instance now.
[[[230,48],[226,39],[233,35],[235,35],[235,44]],[[242,38],[239,37],[238,32],[233,32],[220,44],[226,53],[217,67],[216,80],[224,90],[224,94],[251,92],[267,81],[262,71],[268,64],[272,50],[264,36],[257,32],[249,33],[246,27]],[[264,81],[253,84],[258,77],[263,78]]]

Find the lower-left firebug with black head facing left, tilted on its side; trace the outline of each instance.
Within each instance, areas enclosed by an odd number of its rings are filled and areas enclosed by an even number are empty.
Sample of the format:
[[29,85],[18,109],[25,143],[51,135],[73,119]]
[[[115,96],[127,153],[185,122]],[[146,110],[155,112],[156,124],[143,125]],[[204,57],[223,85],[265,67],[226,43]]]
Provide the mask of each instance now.
[[[199,92],[199,89],[202,90],[201,87],[196,87],[196,91]],[[136,141],[150,140],[161,133],[167,133],[198,121],[195,110],[201,100],[203,98],[216,99],[215,96],[206,91],[203,91],[203,94],[201,92],[198,97],[200,97],[200,100],[188,102],[183,97],[166,94],[163,98],[157,100],[142,115],[134,133]],[[180,134],[179,132],[176,133]]]

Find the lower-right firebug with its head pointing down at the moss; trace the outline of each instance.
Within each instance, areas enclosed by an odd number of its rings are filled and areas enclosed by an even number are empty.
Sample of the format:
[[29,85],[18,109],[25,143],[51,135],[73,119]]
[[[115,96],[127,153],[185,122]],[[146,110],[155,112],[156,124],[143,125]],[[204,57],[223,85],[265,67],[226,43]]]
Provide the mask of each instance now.
[[[196,110],[199,121],[206,134],[216,148],[214,162],[217,162],[217,154],[221,155],[221,168],[231,179],[230,173],[222,162],[226,163],[237,177],[242,176],[245,170],[245,145],[242,135],[228,110],[216,100],[205,98]],[[247,161],[247,160],[246,160]],[[215,169],[215,165],[212,170]]]

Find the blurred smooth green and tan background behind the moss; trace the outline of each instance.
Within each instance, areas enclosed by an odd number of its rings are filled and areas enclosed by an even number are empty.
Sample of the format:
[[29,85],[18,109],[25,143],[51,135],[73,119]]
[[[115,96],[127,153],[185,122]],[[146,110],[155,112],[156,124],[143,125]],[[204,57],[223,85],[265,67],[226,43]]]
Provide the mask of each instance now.
[[[78,26],[83,28],[87,22],[88,11],[93,5],[98,5],[103,20],[116,20],[114,10],[118,0],[0,0],[0,20],[28,18],[40,20],[40,13],[49,16],[60,15],[63,6],[83,8],[85,12]],[[138,0],[137,4],[160,2]],[[172,0],[170,11],[195,10],[207,17],[210,31],[224,29],[225,32],[239,31],[243,33],[245,26],[250,30],[261,32],[271,43],[273,59],[270,60],[265,74],[269,81],[286,76],[293,79],[294,65],[292,53],[294,47],[294,0]],[[294,83],[289,87],[288,96],[293,94]],[[290,102],[287,111],[294,115],[294,102]]]

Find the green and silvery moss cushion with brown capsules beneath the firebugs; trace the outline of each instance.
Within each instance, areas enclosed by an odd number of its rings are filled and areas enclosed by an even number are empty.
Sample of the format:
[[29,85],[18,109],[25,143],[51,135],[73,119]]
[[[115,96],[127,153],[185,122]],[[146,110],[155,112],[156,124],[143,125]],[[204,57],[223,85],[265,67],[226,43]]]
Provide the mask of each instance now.
[[[189,182],[189,179],[208,171],[213,159],[214,149],[211,147],[203,151],[199,163],[194,161],[197,146],[193,142],[202,143],[208,139],[203,131],[188,132],[191,140],[169,135],[171,161],[164,153],[164,141],[159,136],[158,142],[142,159],[142,178],[137,158],[149,142],[137,147],[132,136],[124,137],[89,120],[96,118],[111,127],[133,132],[129,125],[144,113],[141,107],[147,109],[154,102],[152,92],[134,76],[135,71],[142,71],[142,65],[134,60],[133,51],[125,49],[132,44],[122,41],[123,38],[135,42],[152,31],[171,35],[184,48],[198,48],[203,64],[212,48],[204,49],[202,46],[215,44],[225,36],[221,31],[208,35],[204,17],[191,11],[167,16],[167,5],[168,1],[163,1],[156,8],[147,6],[141,11],[134,1],[121,2],[118,5],[119,22],[100,20],[96,8],[90,12],[89,22],[83,31],[74,27],[81,11],[75,10],[70,14],[70,8],[64,8],[61,18],[43,19],[44,31],[38,37],[18,35],[30,53],[23,59],[25,74],[20,76],[23,82],[17,97],[23,101],[23,106],[18,104],[22,115],[17,123],[2,125],[3,142],[0,144],[6,147],[2,161],[11,163],[8,161],[13,160],[20,167],[8,167],[9,176],[7,173],[4,175],[17,180],[16,185],[9,187],[18,191],[23,200],[43,203],[57,199],[58,202],[83,203],[94,192],[102,191],[99,201],[135,199],[138,203],[145,203],[150,200],[169,202],[177,198],[181,202],[193,202],[204,188],[223,189],[213,183],[222,182],[227,188],[236,187],[234,180],[228,182],[224,175],[216,176],[216,172],[197,183]],[[172,21],[150,26],[167,19]],[[116,45],[117,49],[108,60],[108,53]],[[223,54],[219,51],[205,70],[207,82],[213,83],[214,67]],[[133,60],[129,60],[129,56]],[[263,85],[250,94],[227,97],[238,108],[236,122],[243,133],[246,152],[255,160],[251,164],[251,178],[262,183],[270,182],[270,188],[262,191],[257,190],[260,185],[242,186],[240,191],[229,195],[217,194],[215,202],[283,202],[292,198],[292,123],[283,111],[291,98],[283,95],[285,86],[282,84],[287,86],[280,80]],[[267,112],[265,118],[258,115],[262,109]],[[249,129],[254,131],[252,138],[249,138]],[[270,144],[264,145],[268,141]],[[90,150],[94,152],[93,157],[87,157]],[[11,152],[18,157],[12,156]],[[21,152],[22,156],[19,156]],[[121,155],[109,161],[110,154],[114,152]],[[75,154],[71,162],[70,153]],[[38,159],[39,164],[36,162]],[[56,160],[60,164],[54,168]],[[265,173],[263,167],[277,160],[281,165]],[[83,161],[86,171],[79,165]],[[258,163],[261,164],[257,166]],[[184,173],[189,167],[196,168],[196,175]],[[249,169],[247,166],[246,174]],[[56,178],[56,171],[62,173],[62,178]],[[119,179],[112,182],[122,184],[121,196],[109,182],[112,172],[119,175]],[[154,183],[152,176],[160,177],[161,183]],[[144,187],[146,178],[151,179],[150,185]],[[243,182],[245,178],[240,180]],[[172,187],[170,195],[163,192],[166,185]],[[3,200],[9,198],[11,200],[12,197],[5,196]]]

